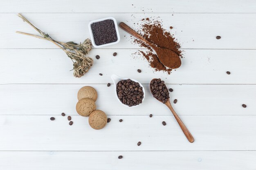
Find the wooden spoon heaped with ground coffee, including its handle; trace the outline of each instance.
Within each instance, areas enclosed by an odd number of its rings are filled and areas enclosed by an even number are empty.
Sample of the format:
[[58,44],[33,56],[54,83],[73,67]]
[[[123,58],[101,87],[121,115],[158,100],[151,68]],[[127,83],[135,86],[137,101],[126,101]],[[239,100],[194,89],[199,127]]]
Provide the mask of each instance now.
[[130,33],[130,35],[133,35],[135,38],[138,38],[139,40],[148,44],[155,51],[159,61],[164,66],[169,67],[169,68],[179,68],[180,67],[181,60],[180,60],[179,55],[177,55],[175,52],[173,52],[169,49],[164,49],[164,48],[155,46],[154,44],[150,43],[148,40],[143,38],[141,35],[136,33],[133,29],[131,29],[124,22],[120,22],[119,26],[122,29],[124,29],[126,32]]

